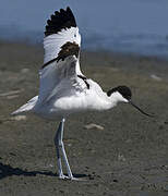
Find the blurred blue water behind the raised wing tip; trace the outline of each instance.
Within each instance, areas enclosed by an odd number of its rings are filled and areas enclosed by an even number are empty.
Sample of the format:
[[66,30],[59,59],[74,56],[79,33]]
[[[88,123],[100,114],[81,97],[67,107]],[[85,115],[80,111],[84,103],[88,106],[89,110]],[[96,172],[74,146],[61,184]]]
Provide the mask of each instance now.
[[41,44],[50,14],[68,5],[83,48],[167,58],[167,0],[2,0],[0,39]]

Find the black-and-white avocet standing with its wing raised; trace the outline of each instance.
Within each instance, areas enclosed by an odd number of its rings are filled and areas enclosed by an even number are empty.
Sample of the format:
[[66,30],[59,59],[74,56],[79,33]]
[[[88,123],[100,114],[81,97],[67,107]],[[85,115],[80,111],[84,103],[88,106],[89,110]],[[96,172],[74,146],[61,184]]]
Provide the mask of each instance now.
[[[65,119],[72,113],[103,111],[119,102],[132,105],[132,91],[121,85],[104,91],[92,78],[87,78],[80,68],[81,35],[70,7],[56,11],[47,21],[44,36],[44,64],[39,69],[39,94],[12,112],[12,115],[36,114],[51,121],[60,121],[55,135],[58,176],[76,180],[73,175],[63,144]],[[67,174],[63,173],[65,164]]]

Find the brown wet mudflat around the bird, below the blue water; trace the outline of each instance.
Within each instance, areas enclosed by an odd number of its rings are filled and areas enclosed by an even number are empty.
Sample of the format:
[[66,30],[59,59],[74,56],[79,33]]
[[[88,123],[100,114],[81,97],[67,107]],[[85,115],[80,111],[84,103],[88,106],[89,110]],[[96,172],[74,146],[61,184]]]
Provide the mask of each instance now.
[[[82,52],[82,70],[105,90],[130,86],[151,119],[121,103],[73,115],[64,144],[81,182],[57,176],[53,136],[59,122],[10,113],[38,94],[43,48],[0,42],[0,196],[167,196],[168,62],[156,58]],[[104,130],[85,128],[95,123]],[[85,180],[85,181],[84,181]]]

